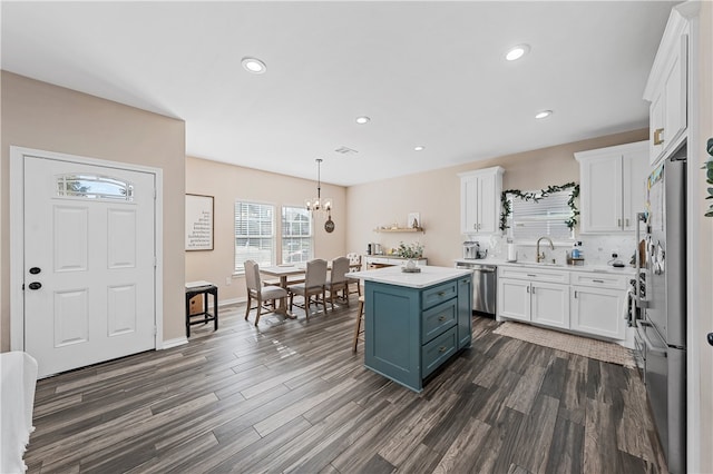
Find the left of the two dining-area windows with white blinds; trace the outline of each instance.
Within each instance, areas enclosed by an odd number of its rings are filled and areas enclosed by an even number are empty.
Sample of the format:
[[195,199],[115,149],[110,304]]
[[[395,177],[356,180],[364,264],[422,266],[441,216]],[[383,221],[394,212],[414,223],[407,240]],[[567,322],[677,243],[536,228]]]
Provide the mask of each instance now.
[[235,203],[235,273],[245,273],[245,260],[261,267],[275,263],[275,207]]

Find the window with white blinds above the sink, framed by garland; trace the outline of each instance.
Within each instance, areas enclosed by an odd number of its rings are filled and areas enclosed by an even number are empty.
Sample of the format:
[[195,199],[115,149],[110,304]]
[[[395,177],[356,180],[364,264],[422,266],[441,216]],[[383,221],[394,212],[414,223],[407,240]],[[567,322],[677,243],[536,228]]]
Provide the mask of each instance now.
[[508,196],[512,209],[509,223],[512,238],[518,241],[537,240],[543,236],[553,240],[573,238],[573,231],[566,224],[572,217],[572,209],[567,204],[570,194],[553,192],[537,201]]

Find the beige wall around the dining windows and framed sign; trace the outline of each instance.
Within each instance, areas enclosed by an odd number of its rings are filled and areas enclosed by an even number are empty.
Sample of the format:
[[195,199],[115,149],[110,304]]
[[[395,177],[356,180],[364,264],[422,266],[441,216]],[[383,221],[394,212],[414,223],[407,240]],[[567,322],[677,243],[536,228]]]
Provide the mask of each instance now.
[[[310,167],[312,165],[305,164]],[[244,299],[245,279],[242,276],[233,277],[235,201],[272,204],[275,206],[275,213],[280,213],[283,205],[304,206],[304,199],[316,196],[316,169],[315,180],[309,180],[188,157],[186,192],[215,197],[214,249],[186,251],[186,282],[207,280],[216,284],[221,302]],[[341,186],[322,182],[322,196],[334,200],[332,220],[335,229],[328,234],[323,227],[326,218],[315,220],[314,255],[330,260],[346,254],[346,191]],[[280,234],[280,214],[276,221],[276,233]],[[280,255],[276,258],[281,261]]]

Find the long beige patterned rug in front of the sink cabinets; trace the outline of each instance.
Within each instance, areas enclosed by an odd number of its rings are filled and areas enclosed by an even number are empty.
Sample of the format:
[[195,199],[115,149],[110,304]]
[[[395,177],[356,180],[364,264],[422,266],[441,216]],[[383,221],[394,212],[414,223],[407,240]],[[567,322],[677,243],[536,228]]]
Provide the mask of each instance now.
[[494,333],[554,349],[578,354],[625,367],[635,367],[632,350],[614,343],[565,334],[514,322],[505,322]]

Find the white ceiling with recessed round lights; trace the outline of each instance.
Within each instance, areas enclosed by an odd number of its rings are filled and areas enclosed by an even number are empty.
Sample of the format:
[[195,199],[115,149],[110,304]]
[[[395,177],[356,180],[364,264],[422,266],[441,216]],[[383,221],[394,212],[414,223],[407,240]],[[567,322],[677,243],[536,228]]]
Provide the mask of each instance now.
[[307,179],[323,158],[350,186],[647,127],[675,3],[3,1],[1,63],[180,118],[189,156]]

